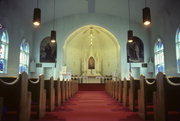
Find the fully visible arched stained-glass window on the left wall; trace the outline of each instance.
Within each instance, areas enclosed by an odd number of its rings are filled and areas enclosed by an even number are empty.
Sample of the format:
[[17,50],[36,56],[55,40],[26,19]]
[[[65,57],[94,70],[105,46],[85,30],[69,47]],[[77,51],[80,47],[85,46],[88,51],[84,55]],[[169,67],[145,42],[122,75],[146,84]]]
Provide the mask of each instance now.
[[19,73],[27,72],[29,67],[29,44],[27,40],[23,40],[20,45],[20,63]]

